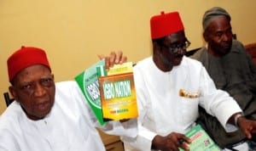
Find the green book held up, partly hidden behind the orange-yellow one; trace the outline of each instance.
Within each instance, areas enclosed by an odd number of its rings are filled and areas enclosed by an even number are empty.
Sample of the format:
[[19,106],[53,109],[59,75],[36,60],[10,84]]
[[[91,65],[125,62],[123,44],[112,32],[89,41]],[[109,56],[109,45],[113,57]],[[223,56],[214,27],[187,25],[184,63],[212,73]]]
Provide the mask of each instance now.
[[90,66],[90,68],[84,70],[78,76],[75,77],[75,81],[79,84],[80,89],[84,93],[85,99],[90,104],[90,108],[96,115],[101,125],[105,124],[102,117],[102,104],[99,90],[98,72],[97,69],[100,66],[105,66],[105,60],[102,59],[96,64]]

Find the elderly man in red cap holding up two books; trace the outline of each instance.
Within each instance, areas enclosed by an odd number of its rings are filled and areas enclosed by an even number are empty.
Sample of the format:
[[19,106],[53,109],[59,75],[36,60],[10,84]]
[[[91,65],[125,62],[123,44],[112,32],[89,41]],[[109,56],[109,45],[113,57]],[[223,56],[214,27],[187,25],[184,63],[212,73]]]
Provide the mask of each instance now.
[[[106,65],[122,63],[122,53],[112,53]],[[0,150],[84,151],[105,150],[96,131],[96,116],[75,81],[55,84],[46,53],[41,48],[22,47],[8,59],[15,102],[1,115]],[[106,130],[137,134],[137,126],[113,121]],[[134,128],[135,127],[135,128]]]

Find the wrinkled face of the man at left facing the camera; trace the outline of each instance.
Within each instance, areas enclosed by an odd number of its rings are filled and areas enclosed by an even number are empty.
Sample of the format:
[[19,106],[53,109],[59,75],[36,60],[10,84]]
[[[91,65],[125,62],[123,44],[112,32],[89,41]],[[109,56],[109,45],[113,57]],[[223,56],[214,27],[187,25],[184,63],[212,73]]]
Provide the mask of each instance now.
[[55,102],[55,82],[49,68],[36,64],[21,70],[9,87],[28,118],[39,120],[49,114]]

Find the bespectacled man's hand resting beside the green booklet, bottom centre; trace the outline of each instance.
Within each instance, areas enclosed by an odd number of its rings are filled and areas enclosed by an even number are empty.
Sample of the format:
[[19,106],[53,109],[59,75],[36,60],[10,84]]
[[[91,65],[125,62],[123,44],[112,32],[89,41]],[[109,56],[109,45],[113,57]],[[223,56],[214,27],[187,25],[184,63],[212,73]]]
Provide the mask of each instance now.
[[180,147],[187,151],[189,150],[188,143],[191,143],[189,137],[177,132],[172,132],[166,137],[155,136],[152,141],[152,148],[162,151],[178,151],[178,147]]

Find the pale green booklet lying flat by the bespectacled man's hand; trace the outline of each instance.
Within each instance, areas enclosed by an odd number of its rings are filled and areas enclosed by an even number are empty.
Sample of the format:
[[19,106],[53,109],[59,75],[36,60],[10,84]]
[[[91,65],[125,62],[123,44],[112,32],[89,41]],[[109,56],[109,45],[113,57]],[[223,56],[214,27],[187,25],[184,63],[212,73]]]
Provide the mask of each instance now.
[[190,151],[221,151],[200,125],[192,127],[185,135],[192,140],[192,143],[189,143]]

